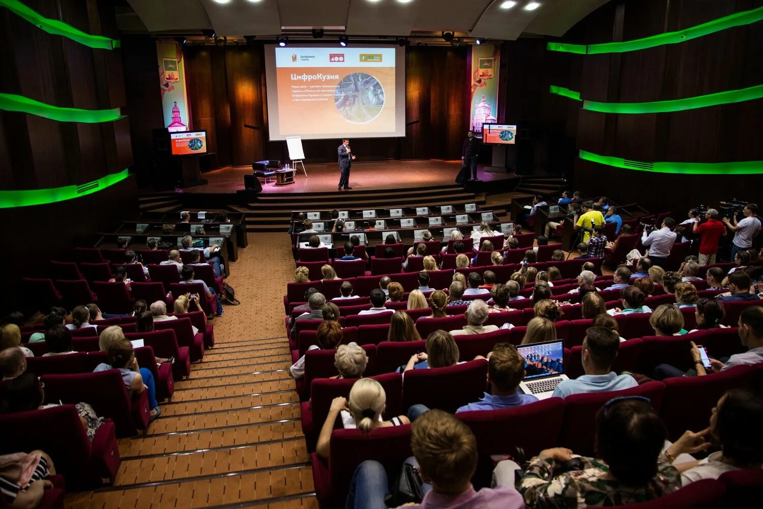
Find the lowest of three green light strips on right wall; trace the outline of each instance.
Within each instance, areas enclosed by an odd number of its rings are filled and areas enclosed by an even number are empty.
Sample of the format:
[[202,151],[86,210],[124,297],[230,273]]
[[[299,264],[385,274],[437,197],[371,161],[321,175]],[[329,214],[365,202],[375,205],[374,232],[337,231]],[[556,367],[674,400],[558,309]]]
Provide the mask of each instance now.
[[620,157],[600,156],[581,150],[578,156],[593,163],[636,169],[642,172],[680,173],[684,175],[752,175],[763,173],[763,161],[734,161],[731,163],[645,163]]

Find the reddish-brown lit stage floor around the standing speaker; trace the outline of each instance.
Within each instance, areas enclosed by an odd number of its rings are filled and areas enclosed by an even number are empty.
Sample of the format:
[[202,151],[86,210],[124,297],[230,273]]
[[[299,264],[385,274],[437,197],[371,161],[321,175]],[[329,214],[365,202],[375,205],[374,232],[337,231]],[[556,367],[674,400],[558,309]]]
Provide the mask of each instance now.
[[[340,170],[336,163],[308,164],[307,177],[301,168],[295,174],[295,183],[291,185],[275,185],[275,178],[268,184],[262,185],[264,193],[292,192],[325,192],[336,191],[339,183]],[[460,161],[443,161],[428,159],[416,161],[378,161],[373,163],[353,163],[349,173],[349,186],[353,191],[370,189],[405,189],[419,188],[432,185],[454,185],[456,175],[461,169]],[[251,166],[227,166],[205,172],[201,175],[207,179],[205,185],[195,185],[184,188],[187,192],[196,193],[230,193],[243,189],[243,176],[251,175]],[[486,182],[513,177],[513,173],[485,172],[481,167],[477,170],[478,179]],[[262,181],[260,181],[262,182]],[[353,192],[348,191],[348,192]]]

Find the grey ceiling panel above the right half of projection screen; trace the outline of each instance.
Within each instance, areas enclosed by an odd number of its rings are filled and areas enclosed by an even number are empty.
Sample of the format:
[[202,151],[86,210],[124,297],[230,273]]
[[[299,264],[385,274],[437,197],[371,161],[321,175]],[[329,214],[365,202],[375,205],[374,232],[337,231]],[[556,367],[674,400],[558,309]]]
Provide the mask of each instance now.
[[349,14],[347,14],[347,34],[409,35],[416,24],[422,3],[420,0],[404,4],[391,2],[391,0],[386,2],[353,0],[350,2]]

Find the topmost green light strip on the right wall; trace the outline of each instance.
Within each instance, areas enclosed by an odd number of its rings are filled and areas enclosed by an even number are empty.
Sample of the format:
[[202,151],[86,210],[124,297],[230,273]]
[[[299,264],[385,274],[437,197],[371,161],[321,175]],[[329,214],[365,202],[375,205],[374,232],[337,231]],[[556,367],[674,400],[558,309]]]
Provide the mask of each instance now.
[[665,32],[665,34],[652,35],[642,39],[624,40],[618,43],[603,44],[566,44],[566,43],[548,43],[546,49],[550,51],[563,51],[565,53],[579,53],[583,55],[595,55],[600,53],[626,53],[628,51],[645,50],[662,46],[664,44],[683,43],[687,40],[696,39],[709,34],[715,34],[726,28],[741,27],[745,24],[755,23],[763,20],[763,7],[752,9],[752,11],[742,11],[730,14],[723,18],[718,18],[707,23],[698,24],[696,27],[689,27],[675,32]]

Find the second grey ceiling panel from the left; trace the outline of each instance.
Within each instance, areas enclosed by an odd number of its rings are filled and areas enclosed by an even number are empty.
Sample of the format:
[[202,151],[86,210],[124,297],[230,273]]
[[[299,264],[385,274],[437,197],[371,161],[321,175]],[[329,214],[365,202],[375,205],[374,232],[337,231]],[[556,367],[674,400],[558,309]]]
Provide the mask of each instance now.
[[281,33],[277,0],[262,0],[262,2],[231,0],[227,4],[218,4],[214,0],[201,0],[201,4],[204,5],[217,35]]

